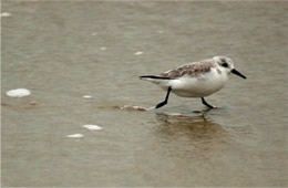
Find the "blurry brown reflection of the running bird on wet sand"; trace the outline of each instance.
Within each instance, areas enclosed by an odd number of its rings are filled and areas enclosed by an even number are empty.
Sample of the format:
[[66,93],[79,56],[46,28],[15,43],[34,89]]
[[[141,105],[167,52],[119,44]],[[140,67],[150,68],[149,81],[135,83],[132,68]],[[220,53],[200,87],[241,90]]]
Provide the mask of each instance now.
[[206,117],[205,114],[186,116],[158,113],[156,119],[160,125],[155,127],[154,133],[171,154],[185,155],[195,149],[207,154],[208,150],[224,146],[228,137],[228,133],[222,125]]

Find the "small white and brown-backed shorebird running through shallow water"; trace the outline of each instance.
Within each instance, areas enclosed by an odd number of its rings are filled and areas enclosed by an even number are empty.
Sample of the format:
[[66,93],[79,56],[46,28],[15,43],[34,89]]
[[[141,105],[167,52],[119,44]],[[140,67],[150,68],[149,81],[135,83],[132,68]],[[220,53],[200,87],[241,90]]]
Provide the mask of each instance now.
[[230,73],[246,79],[234,67],[229,58],[214,56],[181,65],[158,75],[143,75],[140,79],[157,84],[167,91],[165,100],[158,103],[155,108],[167,104],[171,92],[182,97],[200,97],[204,105],[213,108],[214,106],[208,104],[204,97],[223,88]]

